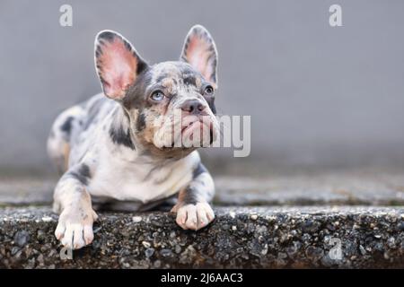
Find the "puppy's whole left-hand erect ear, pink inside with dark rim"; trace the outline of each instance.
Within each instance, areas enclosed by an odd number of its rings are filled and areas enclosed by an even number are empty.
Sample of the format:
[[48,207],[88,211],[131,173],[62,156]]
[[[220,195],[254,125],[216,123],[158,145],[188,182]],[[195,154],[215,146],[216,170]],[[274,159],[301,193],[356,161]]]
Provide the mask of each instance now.
[[122,35],[102,30],[95,37],[95,67],[105,95],[122,100],[147,64]]

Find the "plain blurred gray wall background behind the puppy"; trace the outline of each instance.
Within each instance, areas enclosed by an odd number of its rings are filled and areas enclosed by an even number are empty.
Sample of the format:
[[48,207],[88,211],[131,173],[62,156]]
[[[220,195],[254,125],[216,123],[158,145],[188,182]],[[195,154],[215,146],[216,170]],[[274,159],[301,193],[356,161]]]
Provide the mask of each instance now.
[[[73,27],[59,25],[62,4],[73,6]],[[329,26],[331,4],[342,6],[343,27]],[[101,91],[99,30],[118,30],[155,63],[177,59],[195,23],[219,51],[219,112],[251,116],[250,157],[204,151],[210,165],[402,166],[403,14],[403,1],[382,0],[2,0],[0,170],[52,170],[53,119]]]

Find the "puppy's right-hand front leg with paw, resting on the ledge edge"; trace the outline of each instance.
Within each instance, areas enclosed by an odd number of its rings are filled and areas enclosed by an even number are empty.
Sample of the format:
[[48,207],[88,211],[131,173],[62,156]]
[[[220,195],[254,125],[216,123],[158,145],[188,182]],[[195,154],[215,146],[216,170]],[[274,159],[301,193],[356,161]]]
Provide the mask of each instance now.
[[171,210],[177,213],[176,222],[184,230],[199,230],[215,218],[209,204],[215,194],[213,179],[202,164],[198,170],[189,186],[180,190],[178,203]]

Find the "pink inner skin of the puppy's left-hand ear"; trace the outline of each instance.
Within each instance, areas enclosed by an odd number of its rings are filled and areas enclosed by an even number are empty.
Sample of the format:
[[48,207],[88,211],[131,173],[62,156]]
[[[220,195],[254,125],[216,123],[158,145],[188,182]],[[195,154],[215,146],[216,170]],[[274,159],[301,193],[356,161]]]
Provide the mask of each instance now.
[[97,66],[105,95],[112,99],[122,99],[127,88],[136,80],[137,65],[134,51],[123,39],[117,36],[110,41],[103,40]]

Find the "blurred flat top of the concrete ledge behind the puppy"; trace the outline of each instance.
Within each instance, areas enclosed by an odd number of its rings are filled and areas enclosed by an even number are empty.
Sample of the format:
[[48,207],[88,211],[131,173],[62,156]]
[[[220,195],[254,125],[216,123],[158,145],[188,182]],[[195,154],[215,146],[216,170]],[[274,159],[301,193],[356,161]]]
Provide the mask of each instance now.
[[[0,178],[0,206],[51,204],[57,178]],[[215,177],[218,205],[404,205],[404,172]]]

